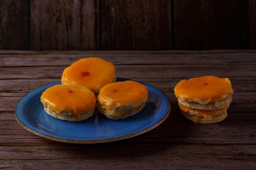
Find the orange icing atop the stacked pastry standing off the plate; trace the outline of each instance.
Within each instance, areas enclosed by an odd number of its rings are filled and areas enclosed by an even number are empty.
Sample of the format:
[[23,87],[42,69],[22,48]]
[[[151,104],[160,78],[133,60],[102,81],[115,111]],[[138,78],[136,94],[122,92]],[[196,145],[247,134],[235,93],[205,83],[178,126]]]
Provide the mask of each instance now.
[[218,96],[233,93],[230,80],[216,76],[203,76],[181,80],[175,86],[174,91],[176,97],[182,101],[210,101],[212,99],[218,99]]

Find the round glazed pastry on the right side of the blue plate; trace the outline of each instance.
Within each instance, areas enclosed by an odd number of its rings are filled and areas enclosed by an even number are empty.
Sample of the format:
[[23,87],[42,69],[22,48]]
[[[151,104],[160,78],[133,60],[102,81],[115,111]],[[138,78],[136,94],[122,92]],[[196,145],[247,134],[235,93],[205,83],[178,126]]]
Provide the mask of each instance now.
[[148,89],[136,81],[105,85],[98,94],[98,111],[110,119],[125,119],[140,112],[148,100]]

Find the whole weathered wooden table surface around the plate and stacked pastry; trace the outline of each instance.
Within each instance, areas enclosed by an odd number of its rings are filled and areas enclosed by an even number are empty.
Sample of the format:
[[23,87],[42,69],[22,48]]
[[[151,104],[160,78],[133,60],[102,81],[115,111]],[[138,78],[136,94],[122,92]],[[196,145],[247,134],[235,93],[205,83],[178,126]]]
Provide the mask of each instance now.
[[[116,65],[117,77],[154,85],[170,99],[170,116],[133,138],[69,144],[41,138],[15,119],[17,102],[31,90],[60,80],[79,58]],[[228,117],[201,125],[179,113],[174,86],[182,79],[231,79]],[[256,51],[0,51],[0,169],[256,169]]]

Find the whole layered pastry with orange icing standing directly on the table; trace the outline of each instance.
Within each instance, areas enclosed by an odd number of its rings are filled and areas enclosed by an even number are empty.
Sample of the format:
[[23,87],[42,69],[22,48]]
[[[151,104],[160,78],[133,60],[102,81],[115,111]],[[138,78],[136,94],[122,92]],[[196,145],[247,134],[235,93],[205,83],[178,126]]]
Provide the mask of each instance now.
[[227,117],[233,89],[228,78],[203,76],[180,81],[174,92],[185,118],[209,124]]

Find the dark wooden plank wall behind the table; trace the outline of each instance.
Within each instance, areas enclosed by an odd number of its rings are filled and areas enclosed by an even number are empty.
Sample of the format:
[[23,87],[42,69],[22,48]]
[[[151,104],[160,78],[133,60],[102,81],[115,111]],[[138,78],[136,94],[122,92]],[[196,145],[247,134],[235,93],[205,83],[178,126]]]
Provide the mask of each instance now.
[[256,0],[0,0],[0,49],[256,49]]

